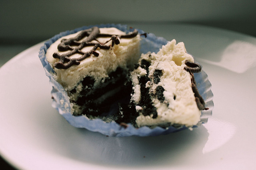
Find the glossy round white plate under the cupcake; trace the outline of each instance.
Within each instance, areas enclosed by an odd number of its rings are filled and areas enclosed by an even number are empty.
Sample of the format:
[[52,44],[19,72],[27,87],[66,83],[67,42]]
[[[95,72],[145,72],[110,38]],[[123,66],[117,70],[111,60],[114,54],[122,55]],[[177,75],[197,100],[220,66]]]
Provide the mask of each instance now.
[[215,28],[132,25],[185,43],[212,83],[208,123],[158,137],[106,137],[77,129],[51,107],[38,59],[43,43],[0,68],[0,153],[22,169],[253,169],[256,39]]

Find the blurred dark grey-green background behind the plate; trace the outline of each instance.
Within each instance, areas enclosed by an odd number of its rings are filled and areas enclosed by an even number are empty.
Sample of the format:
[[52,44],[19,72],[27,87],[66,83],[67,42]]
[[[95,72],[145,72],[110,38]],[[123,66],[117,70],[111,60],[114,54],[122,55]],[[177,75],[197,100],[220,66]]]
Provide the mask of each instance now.
[[[185,22],[256,36],[255,0],[1,0],[1,44],[35,44],[99,23]],[[146,30],[145,30],[146,31]]]

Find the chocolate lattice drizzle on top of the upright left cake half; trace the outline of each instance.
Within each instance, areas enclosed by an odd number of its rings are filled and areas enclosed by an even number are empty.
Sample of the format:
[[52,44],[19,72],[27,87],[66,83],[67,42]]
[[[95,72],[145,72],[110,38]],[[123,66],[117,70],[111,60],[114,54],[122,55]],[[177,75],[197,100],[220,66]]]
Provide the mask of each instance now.
[[[58,69],[67,69],[72,65],[79,65],[81,61],[89,57],[90,55],[94,55],[95,57],[99,56],[99,53],[96,52],[97,48],[100,49],[110,49],[110,45],[105,45],[109,41],[112,41],[111,47],[114,46],[114,44],[118,45],[120,43],[121,38],[133,38],[138,35],[138,31],[134,29],[133,32],[130,32],[126,35],[111,35],[111,34],[102,34],[100,33],[100,29],[98,27],[92,27],[90,29],[86,29],[81,31],[76,37],[71,37],[69,39],[62,39],[61,43],[58,45],[58,51],[68,51],[68,53],[60,55],[59,53],[53,53],[52,57],[55,59],[60,59],[60,61],[54,63],[54,67]],[[84,37],[87,38],[83,40],[82,42],[79,42]],[[97,40],[98,37],[111,37],[110,40],[106,42],[99,42]],[[91,41],[97,41],[95,43]],[[76,45],[77,47],[72,47]],[[87,46],[93,46],[90,51],[81,51],[84,47]],[[82,56],[79,58],[69,58],[70,56],[74,54],[81,54]]]

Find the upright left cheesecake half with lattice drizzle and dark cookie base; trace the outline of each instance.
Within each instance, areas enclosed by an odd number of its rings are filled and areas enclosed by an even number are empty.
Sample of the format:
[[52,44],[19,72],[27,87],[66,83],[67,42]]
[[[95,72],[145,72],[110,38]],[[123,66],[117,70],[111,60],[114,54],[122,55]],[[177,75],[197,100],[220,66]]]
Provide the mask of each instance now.
[[92,27],[61,37],[45,56],[70,98],[72,115],[97,116],[127,91],[124,82],[140,57],[140,35]]

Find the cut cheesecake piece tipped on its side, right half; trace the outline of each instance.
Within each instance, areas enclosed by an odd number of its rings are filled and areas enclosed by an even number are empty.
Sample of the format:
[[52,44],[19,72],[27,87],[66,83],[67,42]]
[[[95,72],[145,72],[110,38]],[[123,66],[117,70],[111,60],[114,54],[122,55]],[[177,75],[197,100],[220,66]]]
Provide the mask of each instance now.
[[158,53],[142,54],[130,74],[130,103],[120,107],[123,120],[128,117],[138,127],[196,125],[207,109],[193,74],[200,71],[184,43],[175,39]]

